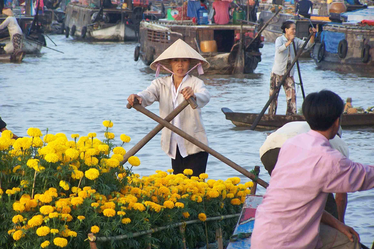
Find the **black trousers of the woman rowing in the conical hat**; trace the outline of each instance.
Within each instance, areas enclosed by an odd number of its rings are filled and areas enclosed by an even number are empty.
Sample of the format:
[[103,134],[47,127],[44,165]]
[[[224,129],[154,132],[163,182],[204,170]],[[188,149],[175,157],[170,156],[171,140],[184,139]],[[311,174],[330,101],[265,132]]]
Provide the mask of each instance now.
[[205,173],[206,171],[208,155],[209,154],[207,152],[201,151],[183,158],[177,145],[175,159],[171,159],[171,167],[174,170],[173,174],[183,174],[185,169],[191,169],[193,171],[192,176],[198,177],[200,174]]

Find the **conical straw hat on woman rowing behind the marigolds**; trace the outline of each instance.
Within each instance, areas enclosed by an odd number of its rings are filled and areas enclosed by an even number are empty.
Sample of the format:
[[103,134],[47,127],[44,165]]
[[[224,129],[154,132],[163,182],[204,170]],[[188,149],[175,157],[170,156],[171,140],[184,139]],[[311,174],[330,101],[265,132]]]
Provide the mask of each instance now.
[[[158,56],[157,59],[155,59],[152,64],[150,64],[150,68],[154,71],[157,70],[157,64],[160,63],[164,67],[168,68],[171,71],[171,66],[169,64],[169,59],[172,58],[190,58],[190,68],[193,68],[198,64],[199,62],[202,62],[202,67],[204,70],[208,69],[210,67],[209,62],[204,59],[203,56],[200,55],[200,53],[197,53],[196,50],[191,48],[186,42],[184,42],[182,39],[178,39],[176,42],[171,44],[170,47],[168,47],[167,50],[165,50],[163,53]],[[164,68],[160,68],[161,72],[167,72]]]

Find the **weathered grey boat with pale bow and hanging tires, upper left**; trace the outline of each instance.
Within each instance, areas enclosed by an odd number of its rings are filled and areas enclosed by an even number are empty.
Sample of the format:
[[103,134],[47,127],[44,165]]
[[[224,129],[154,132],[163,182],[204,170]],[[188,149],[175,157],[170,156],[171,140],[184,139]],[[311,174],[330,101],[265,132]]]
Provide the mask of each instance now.
[[128,7],[93,8],[70,3],[66,7],[65,36],[96,41],[134,40],[138,36],[143,9]]

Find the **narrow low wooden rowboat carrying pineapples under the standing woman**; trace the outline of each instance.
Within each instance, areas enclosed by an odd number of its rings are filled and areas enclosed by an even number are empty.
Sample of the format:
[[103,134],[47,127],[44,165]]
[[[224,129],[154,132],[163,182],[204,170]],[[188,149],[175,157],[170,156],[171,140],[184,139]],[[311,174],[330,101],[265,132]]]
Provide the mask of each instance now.
[[[258,113],[233,112],[229,108],[221,109],[227,120],[236,126],[251,126]],[[257,128],[274,130],[293,122],[305,121],[302,115],[268,115],[264,114]],[[343,114],[341,119],[342,127],[374,126],[374,113]]]

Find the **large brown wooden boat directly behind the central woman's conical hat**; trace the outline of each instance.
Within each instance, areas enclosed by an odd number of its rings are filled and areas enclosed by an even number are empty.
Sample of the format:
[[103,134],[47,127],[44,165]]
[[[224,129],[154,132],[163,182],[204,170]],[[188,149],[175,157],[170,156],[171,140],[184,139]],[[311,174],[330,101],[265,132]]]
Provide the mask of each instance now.
[[[240,49],[242,30],[243,45]],[[138,58],[149,66],[162,52],[176,40],[183,39],[210,63],[206,73],[232,74],[252,73],[261,61],[262,36],[256,40],[253,25],[192,25],[191,21],[141,21],[140,45],[135,48],[134,60]],[[215,40],[217,52],[204,53],[202,41]],[[241,67],[237,65],[240,51]]]

